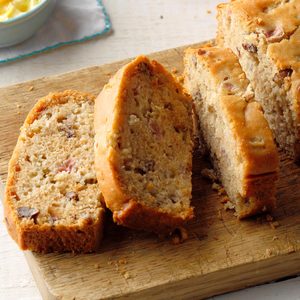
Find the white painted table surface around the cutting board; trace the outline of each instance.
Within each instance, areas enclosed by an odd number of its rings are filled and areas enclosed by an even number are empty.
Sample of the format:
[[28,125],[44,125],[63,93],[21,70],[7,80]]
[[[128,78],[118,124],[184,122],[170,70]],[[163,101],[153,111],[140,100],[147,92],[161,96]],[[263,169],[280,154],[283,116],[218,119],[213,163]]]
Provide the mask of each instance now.
[[[104,4],[113,24],[111,34],[2,65],[0,86],[211,39],[216,31],[215,6],[220,2],[223,1],[106,0]],[[0,219],[3,220],[2,207]],[[3,222],[0,223],[0,299],[41,299],[23,253],[8,236]],[[214,299],[299,300],[300,277]]]

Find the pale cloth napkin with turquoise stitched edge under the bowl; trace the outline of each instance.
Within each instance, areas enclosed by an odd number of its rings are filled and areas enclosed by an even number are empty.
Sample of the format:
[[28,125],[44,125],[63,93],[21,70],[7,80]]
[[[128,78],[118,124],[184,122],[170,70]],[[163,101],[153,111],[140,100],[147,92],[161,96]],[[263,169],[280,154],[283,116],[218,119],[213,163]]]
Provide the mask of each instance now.
[[111,23],[101,0],[58,0],[53,14],[32,38],[0,49],[0,64],[84,42],[110,29]]

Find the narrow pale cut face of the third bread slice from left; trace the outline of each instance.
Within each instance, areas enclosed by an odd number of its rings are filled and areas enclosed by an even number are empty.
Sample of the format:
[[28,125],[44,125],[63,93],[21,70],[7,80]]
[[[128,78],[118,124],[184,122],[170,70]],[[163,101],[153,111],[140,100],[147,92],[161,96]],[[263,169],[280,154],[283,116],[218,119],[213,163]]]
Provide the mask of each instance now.
[[[236,97],[253,98],[253,93],[248,88],[245,77],[241,77],[238,82],[232,81],[231,71],[225,67],[222,70],[224,80],[219,83],[218,79],[210,74],[206,63],[198,60],[197,55],[186,56],[185,85],[194,99],[204,141],[210,149],[211,161],[235,209],[239,212],[245,202],[245,164],[228,116],[224,113],[223,103],[234,102]],[[217,57],[214,63],[222,64],[222,58]],[[240,103],[238,100],[236,104]]]

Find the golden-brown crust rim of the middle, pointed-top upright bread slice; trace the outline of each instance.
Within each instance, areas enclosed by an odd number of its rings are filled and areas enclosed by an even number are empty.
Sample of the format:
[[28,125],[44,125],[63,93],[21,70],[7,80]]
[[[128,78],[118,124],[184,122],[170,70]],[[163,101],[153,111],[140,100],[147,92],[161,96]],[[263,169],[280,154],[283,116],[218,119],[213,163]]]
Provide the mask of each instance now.
[[[172,75],[170,75],[160,64],[150,62],[148,58],[139,56],[131,63],[121,68],[109,83],[104,86],[102,92],[96,99],[95,104],[95,164],[98,182],[103,193],[106,206],[113,211],[114,220],[122,225],[154,231],[157,233],[168,233],[170,230],[181,226],[185,221],[193,217],[193,209],[178,215],[167,214],[158,209],[151,209],[146,205],[138,203],[126,194],[118,173],[118,154],[110,147],[107,139],[107,131],[111,134],[117,132],[122,124],[121,106],[123,94],[126,92],[127,78],[136,70],[136,66],[146,62],[151,64],[157,72],[163,73],[170,82],[175,85],[180,93],[184,93]],[[187,101],[191,101],[186,96]]]

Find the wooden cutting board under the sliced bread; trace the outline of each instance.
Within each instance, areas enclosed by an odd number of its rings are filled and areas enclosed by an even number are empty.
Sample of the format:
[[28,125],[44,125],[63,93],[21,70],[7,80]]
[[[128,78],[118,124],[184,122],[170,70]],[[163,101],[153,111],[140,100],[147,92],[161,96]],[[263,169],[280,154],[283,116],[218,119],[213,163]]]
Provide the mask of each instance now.
[[[150,56],[180,73],[184,48]],[[125,62],[0,89],[1,178],[5,181],[19,127],[37,99],[65,89],[97,94]],[[207,163],[196,153],[193,205],[197,216],[183,244],[173,245],[108,221],[103,245],[95,254],[25,252],[44,299],[200,299],[300,274],[300,168],[281,157],[273,220],[238,221],[201,177],[204,166]]]

